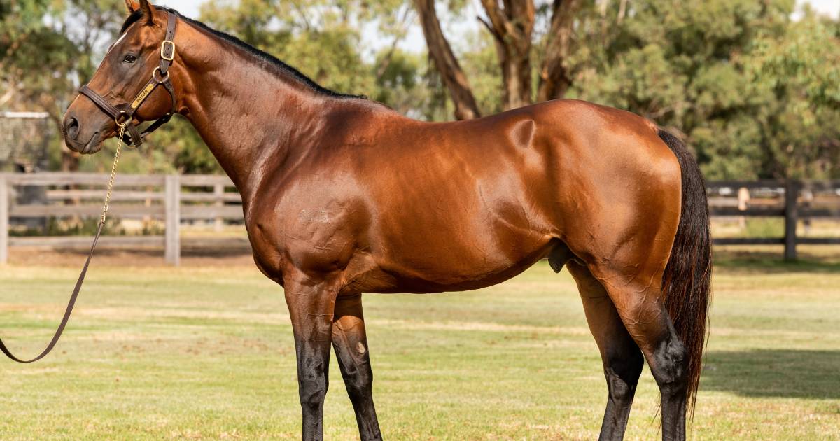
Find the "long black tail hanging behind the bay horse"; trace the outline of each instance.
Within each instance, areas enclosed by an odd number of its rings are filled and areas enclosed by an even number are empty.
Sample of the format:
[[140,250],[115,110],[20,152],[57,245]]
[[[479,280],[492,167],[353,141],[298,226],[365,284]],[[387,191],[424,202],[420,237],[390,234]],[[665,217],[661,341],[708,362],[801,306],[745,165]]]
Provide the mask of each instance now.
[[664,305],[668,308],[676,333],[685,344],[688,354],[686,407],[689,414],[693,415],[711,304],[709,206],[700,167],[685,144],[662,129],[659,129],[659,138],[677,156],[682,169],[680,225],[662,276],[662,293]]

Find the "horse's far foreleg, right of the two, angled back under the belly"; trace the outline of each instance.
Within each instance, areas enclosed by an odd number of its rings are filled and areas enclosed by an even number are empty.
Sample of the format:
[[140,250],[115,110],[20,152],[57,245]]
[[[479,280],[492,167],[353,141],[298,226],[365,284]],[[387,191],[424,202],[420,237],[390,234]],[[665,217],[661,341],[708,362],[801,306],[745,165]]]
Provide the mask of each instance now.
[[361,439],[382,439],[373,404],[373,371],[370,369],[361,294],[339,297],[336,301],[333,347],[339,358],[347,394],[353,402]]

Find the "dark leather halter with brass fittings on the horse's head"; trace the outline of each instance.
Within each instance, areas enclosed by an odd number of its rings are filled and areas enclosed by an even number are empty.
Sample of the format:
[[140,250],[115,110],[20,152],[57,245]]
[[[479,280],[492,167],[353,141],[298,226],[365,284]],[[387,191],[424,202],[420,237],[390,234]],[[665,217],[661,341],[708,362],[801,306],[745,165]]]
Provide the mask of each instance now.
[[[172,60],[175,59],[175,43],[173,39],[175,39],[175,25],[178,16],[174,11],[166,11],[166,13],[166,36],[160,44],[160,66],[155,67],[155,70],[152,71],[151,79],[137,96],[134,97],[132,102],[123,102],[114,106],[102,97],[102,95],[93,92],[90,87],[87,87],[87,84],[79,88],[79,93],[90,98],[94,104],[102,109],[102,112],[108,113],[118,126],[126,126],[130,136],[126,137],[123,135],[123,141],[129,145],[134,144],[134,147],[139,147],[140,144],[143,144],[143,137],[146,134],[154,132],[160,126],[169,122],[172,115],[176,113],[175,90],[172,88],[171,81],[169,81],[169,67],[172,65]],[[163,85],[166,91],[169,92],[172,99],[172,110],[154,123],[151,123],[142,133],[138,132],[137,126],[133,123],[134,113],[137,112],[137,109],[143,104],[146,98],[155,91],[155,88],[160,85]]]

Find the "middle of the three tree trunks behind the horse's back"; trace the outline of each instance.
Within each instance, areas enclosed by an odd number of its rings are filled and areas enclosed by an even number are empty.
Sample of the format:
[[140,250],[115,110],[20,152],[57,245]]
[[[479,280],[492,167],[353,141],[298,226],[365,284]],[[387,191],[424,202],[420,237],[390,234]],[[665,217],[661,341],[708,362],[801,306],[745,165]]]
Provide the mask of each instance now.
[[481,0],[490,22],[481,20],[496,41],[501,67],[502,108],[521,108],[531,103],[531,34],[533,0]]

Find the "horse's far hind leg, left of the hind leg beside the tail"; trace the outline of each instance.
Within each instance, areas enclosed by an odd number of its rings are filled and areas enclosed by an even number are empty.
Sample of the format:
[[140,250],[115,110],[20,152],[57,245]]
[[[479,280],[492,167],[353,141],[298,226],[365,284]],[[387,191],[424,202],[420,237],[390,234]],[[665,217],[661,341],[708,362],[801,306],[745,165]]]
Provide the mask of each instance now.
[[624,328],[624,323],[601,282],[597,281],[585,266],[574,260],[570,260],[567,267],[577,282],[586,321],[601,351],[601,361],[604,364],[609,396],[599,439],[622,439],[627,428],[630,407],[633,406],[638,377],[644,365],[642,351],[627,333],[627,328]]

